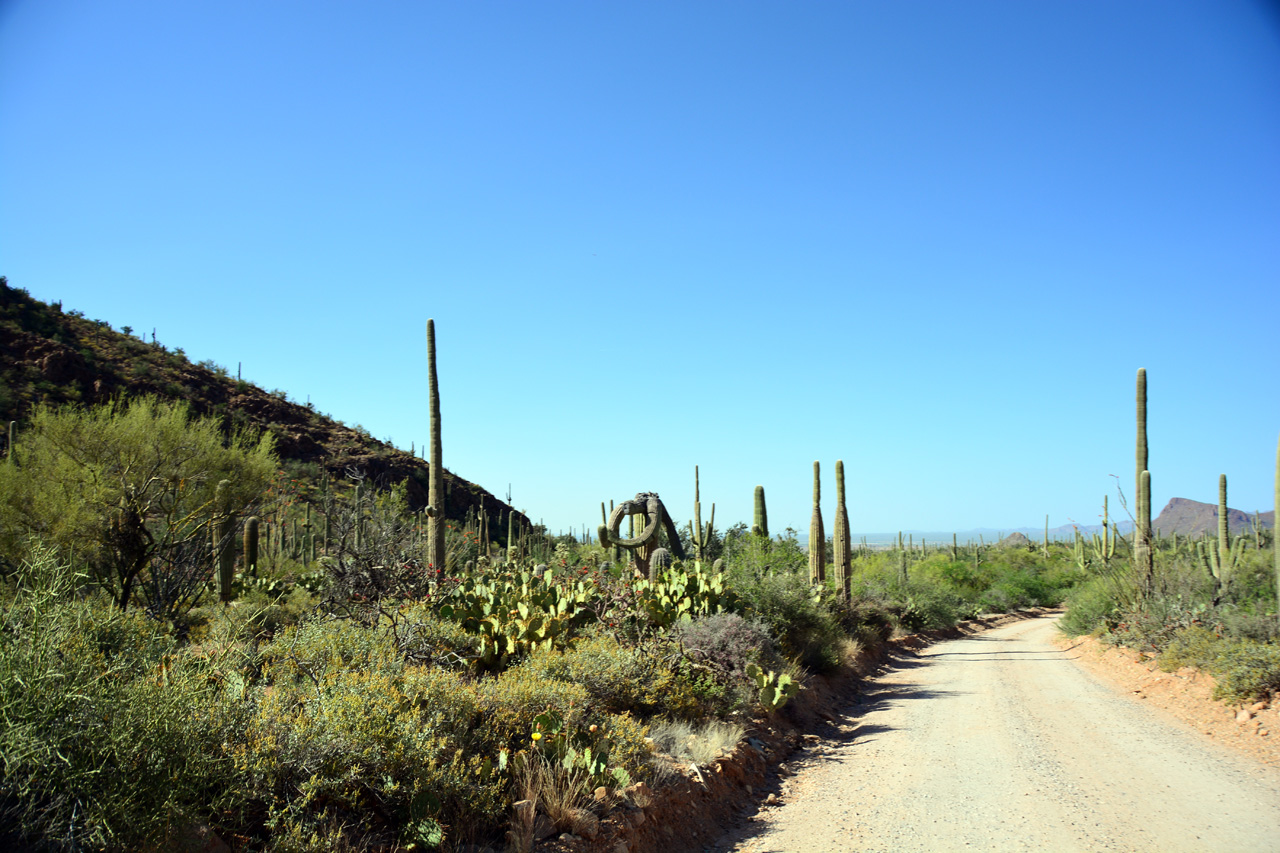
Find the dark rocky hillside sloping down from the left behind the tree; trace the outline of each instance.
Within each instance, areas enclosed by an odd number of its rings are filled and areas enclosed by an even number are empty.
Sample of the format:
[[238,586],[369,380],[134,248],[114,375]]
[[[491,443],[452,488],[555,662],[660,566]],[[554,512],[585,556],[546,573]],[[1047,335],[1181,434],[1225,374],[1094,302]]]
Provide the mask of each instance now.
[[[0,277],[0,420],[18,421],[20,435],[37,403],[92,405],[118,394],[186,400],[197,415],[270,432],[292,476],[314,478],[321,470],[334,478],[358,473],[376,487],[404,483],[410,505],[415,510],[426,506],[430,466],[425,460],[310,405],[291,402],[283,392],[241,382],[219,365],[192,364],[180,348],[115,332],[102,320],[63,310],[59,302],[46,305]],[[493,517],[512,511],[449,471],[444,483],[451,519],[462,519],[481,505]],[[516,515],[529,525],[527,517]]]

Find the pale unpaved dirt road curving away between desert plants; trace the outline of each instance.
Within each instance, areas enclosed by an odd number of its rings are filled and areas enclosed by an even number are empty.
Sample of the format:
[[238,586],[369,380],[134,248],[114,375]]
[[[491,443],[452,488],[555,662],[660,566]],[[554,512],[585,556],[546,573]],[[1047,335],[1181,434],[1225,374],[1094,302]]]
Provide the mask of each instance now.
[[1280,850],[1280,772],[1100,684],[1055,631],[1034,619],[900,661],[723,845]]

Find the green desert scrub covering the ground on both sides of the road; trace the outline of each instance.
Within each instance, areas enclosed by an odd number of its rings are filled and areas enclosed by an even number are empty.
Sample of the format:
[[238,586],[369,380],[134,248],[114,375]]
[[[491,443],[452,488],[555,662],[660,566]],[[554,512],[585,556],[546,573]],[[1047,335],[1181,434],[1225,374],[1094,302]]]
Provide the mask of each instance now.
[[1274,689],[1247,675],[1274,671],[1261,538],[1217,585],[1157,543],[1130,599],[1110,535],[854,543],[842,482],[812,548],[769,533],[763,488],[750,526],[704,523],[695,485],[682,528],[645,493],[557,537],[163,394],[28,394],[0,464],[0,845],[525,849],[536,816],[590,826],[596,789],[714,760],[895,634],[1064,601],[1080,630]]

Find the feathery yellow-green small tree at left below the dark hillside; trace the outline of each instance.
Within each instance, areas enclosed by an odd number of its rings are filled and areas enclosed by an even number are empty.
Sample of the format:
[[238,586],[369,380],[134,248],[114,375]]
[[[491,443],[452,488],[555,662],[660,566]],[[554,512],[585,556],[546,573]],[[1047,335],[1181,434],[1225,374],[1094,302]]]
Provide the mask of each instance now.
[[17,564],[44,542],[86,566],[120,608],[141,597],[169,616],[193,603],[192,579],[202,585],[212,567],[219,482],[227,511],[242,514],[275,469],[270,435],[224,437],[218,419],[193,419],[184,402],[41,406],[22,465],[0,470],[0,556]]

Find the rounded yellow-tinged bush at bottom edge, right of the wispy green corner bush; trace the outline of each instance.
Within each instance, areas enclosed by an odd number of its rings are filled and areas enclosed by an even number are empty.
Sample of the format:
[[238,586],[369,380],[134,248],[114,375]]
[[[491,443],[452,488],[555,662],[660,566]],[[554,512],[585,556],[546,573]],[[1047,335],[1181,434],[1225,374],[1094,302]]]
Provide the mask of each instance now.
[[460,749],[436,724],[387,669],[333,667],[262,690],[233,753],[247,799],[265,811],[268,849],[357,836],[422,844],[451,827],[497,826],[504,779],[494,757]]

